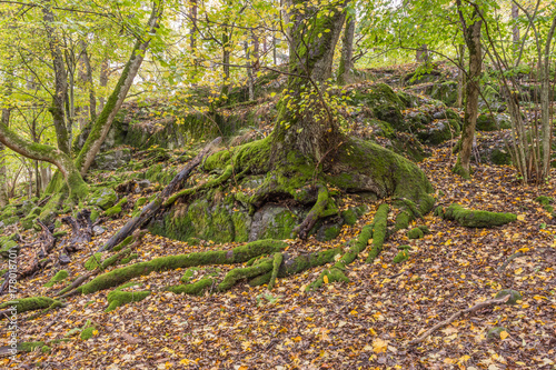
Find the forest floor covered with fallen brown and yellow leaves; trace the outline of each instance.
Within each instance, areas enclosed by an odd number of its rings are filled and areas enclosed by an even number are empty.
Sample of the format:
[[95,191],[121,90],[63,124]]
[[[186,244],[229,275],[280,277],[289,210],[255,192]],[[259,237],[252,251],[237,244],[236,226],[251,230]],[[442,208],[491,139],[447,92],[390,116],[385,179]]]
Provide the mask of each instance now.
[[[473,180],[460,180],[449,169],[450,148],[437,148],[419,166],[437,190],[438,203],[509,211],[518,220],[496,229],[466,229],[433,214],[414,224],[431,233],[408,240],[394,234],[373,264],[366,253],[348,267],[349,283],[329,283],[305,293],[322,268],[279,279],[271,292],[247,283],[226,293],[202,297],[159,291],[177,283],[183,271],[153,272],[136,279],[153,293],[112,312],[105,312],[107,294],[73,296],[68,304],[46,316],[21,314],[19,341],[49,343],[18,354],[18,363],[0,358],[0,368],[23,369],[556,369],[556,224],[538,196],[554,196],[556,180],[540,188],[524,187],[510,167],[480,164]],[[344,227],[330,242],[288,241],[290,249],[334,248],[355,238],[370,222],[378,204],[355,227]],[[71,277],[126,218],[103,224],[89,249],[72,254]],[[24,233],[23,238],[31,238]],[[395,264],[400,244],[411,246],[409,260]],[[147,234],[137,249],[138,261],[190,251],[228,249],[231,244],[189,246]],[[522,251],[523,257],[508,258]],[[22,250],[20,263],[32,251]],[[232,267],[219,267],[219,274]],[[51,296],[63,287],[44,288],[51,274],[20,284],[21,297]],[[193,276],[193,279],[196,277]],[[195,281],[195,280],[193,280]],[[523,294],[516,306],[493,306],[459,318],[424,342],[407,342],[453,313],[492,299],[500,289]],[[1,298],[6,300],[6,296]],[[87,320],[96,330],[81,340],[71,330]],[[4,323],[2,322],[2,326]],[[508,336],[488,339],[504,327]],[[6,331],[0,346],[6,346]]]

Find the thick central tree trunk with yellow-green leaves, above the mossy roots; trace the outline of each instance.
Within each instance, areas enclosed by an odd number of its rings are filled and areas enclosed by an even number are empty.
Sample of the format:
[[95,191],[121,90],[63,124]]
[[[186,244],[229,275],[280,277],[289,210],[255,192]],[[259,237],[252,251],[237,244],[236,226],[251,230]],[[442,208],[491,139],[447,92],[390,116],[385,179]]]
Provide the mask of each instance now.
[[288,16],[292,26],[287,36],[289,93],[279,103],[272,156],[294,150],[319,162],[342,140],[324,98],[324,89],[326,80],[331,77],[334,50],[341,33],[347,3],[345,0],[334,7],[324,7],[320,18],[312,17],[316,9],[305,1],[290,3],[292,10]]

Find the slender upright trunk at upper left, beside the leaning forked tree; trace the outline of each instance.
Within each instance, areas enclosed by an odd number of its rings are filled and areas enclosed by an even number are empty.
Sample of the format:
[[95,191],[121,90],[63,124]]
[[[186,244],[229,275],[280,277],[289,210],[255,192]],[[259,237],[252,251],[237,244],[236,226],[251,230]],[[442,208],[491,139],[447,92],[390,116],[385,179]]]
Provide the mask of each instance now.
[[49,111],[52,114],[52,121],[56,129],[56,138],[58,148],[64,153],[70,153],[70,137],[66,126],[64,104],[66,94],[68,93],[67,72],[63,63],[62,52],[60,50],[60,38],[52,28],[54,16],[50,9],[50,3],[42,7],[42,19],[44,20],[44,28],[47,30],[48,44],[50,54],[52,56],[52,67],[54,70],[54,93],[52,96],[52,106]]

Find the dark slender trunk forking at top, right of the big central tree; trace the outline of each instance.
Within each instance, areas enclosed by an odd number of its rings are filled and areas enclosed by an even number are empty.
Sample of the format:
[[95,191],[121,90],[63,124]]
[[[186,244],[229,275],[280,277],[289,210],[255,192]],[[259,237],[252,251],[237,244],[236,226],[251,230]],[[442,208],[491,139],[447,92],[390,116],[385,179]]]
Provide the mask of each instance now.
[[480,27],[481,20],[478,19],[478,13],[474,11],[470,24],[464,18],[460,0],[458,3],[458,13],[464,29],[464,37],[467,49],[469,50],[469,72],[466,86],[466,101],[464,127],[461,131],[461,150],[458,154],[458,160],[454,172],[464,178],[470,174],[470,159],[473,150],[473,141],[475,138],[475,126],[478,116],[478,98],[479,98],[479,78],[483,64],[481,46],[480,46]]

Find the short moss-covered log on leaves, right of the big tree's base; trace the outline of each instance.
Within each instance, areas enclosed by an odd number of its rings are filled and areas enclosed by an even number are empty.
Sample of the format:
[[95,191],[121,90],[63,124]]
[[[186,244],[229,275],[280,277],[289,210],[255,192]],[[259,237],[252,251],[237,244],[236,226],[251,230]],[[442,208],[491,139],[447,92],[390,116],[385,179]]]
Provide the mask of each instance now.
[[445,213],[445,219],[455,220],[466,228],[493,228],[513,222],[517,219],[514,213],[496,213],[488,211],[474,211],[459,204],[451,204]]

